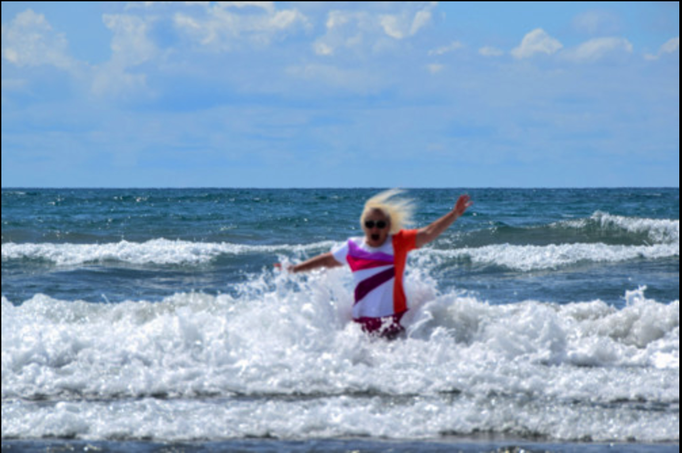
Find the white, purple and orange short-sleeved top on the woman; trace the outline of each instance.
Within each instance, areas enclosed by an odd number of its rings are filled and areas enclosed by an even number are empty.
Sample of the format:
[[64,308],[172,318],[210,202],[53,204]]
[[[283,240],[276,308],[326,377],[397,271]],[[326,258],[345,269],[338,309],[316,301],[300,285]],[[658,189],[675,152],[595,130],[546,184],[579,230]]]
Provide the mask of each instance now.
[[340,263],[348,263],[355,283],[353,320],[368,332],[402,330],[407,311],[403,275],[407,254],[417,248],[417,230],[400,230],[381,247],[370,247],[364,237],[351,238],[332,249]]

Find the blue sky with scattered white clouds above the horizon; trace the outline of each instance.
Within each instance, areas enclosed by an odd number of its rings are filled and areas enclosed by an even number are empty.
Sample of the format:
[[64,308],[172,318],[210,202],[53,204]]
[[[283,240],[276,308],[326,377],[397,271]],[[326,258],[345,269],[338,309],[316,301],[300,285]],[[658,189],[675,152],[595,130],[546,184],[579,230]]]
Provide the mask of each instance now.
[[679,187],[679,16],[2,2],[2,187]]

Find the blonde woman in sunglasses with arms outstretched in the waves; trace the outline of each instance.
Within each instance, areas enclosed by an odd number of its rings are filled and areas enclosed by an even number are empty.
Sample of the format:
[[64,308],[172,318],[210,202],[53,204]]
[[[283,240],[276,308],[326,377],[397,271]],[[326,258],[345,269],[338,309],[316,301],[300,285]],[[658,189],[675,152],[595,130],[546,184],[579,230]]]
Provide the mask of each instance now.
[[348,263],[355,283],[353,320],[365,332],[394,337],[404,330],[400,320],[407,312],[403,275],[407,254],[435,240],[473,204],[462,195],[452,211],[432,224],[406,230],[413,205],[395,198],[399,190],[388,190],[367,200],[360,217],[364,237],[350,238],[331,252],[288,268],[305,272]]

